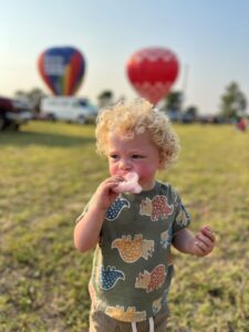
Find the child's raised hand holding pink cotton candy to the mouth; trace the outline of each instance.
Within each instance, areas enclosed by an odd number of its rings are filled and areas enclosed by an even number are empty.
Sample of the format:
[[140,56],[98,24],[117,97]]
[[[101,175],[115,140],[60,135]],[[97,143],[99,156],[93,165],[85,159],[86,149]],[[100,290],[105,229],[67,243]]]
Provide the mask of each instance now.
[[97,187],[92,197],[91,205],[95,205],[98,209],[106,210],[112,203],[117,198],[118,194],[114,189],[118,186],[123,178],[121,176],[113,176],[105,179]]

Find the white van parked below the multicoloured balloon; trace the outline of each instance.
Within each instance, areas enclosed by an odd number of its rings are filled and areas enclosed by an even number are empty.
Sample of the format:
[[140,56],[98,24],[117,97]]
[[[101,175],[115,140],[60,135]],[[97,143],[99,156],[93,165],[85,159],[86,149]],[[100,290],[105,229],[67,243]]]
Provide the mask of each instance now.
[[80,124],[94,123],[97,112],[97,107],[90,103],[87,98],[49,96],[41,101],[43,117],[52,121],[60,120]]

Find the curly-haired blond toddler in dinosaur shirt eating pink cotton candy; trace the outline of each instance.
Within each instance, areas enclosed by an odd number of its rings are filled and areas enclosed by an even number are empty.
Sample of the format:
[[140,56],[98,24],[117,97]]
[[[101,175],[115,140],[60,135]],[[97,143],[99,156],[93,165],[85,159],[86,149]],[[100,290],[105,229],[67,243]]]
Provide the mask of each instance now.
[[90,331],[163,332],[173,277],[170,246],[203,257],[214,249],[215,235],[209,227],[193,235],[179,195],[155,178],[176,160],[179,145],[167,116],[149,102],[120,102],[102,111],[96,145],[107,157],[110,177],[74,229],[80,251],[95,248]]

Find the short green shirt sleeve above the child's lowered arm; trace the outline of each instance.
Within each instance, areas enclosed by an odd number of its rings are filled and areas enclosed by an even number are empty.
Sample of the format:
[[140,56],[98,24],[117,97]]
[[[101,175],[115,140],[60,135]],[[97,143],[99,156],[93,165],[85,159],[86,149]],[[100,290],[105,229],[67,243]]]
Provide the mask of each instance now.
[[173,224],[173,235],[177,231],[188,227],[191,221],[190,215],[188,214],[185,205],[183,204],[179,195],[175,193],[175,206],[176,206],[176,217]]

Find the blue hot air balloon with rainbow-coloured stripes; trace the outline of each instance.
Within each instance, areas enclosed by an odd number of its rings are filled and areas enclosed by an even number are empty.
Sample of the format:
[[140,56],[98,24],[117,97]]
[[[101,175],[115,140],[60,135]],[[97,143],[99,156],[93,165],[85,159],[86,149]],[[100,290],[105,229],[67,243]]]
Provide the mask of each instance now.
[[73,95],[82,83],[85,60],[74,48],[51,48],[39,56],[38,69],[53,94]]

